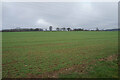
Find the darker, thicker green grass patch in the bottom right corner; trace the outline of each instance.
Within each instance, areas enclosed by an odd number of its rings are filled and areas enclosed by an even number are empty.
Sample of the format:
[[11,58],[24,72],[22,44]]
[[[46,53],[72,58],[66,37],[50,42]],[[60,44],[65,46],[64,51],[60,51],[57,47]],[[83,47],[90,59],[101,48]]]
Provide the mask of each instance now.
[[[90,69],[92,68],[92,69]],[[97,61],[96,65],[88,66],[88,73],[59,74],[59,78],[118,78],[117,61]]]

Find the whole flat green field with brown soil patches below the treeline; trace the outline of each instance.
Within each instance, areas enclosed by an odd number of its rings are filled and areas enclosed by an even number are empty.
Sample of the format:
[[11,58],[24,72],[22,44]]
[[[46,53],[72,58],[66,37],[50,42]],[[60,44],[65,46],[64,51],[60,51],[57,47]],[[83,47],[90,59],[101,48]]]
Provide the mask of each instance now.
[[3,78],[117,78],[118,32],[3,32]]

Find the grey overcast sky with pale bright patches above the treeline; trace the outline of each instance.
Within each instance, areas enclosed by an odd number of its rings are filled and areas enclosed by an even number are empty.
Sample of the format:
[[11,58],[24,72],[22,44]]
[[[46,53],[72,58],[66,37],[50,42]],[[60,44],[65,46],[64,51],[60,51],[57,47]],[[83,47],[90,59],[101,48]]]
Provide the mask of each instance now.
[[116,2],[4,2],[3,29],[117,28]]

